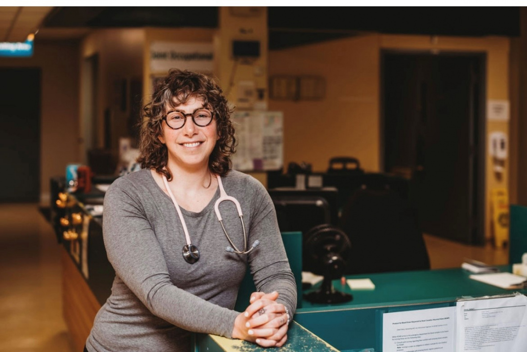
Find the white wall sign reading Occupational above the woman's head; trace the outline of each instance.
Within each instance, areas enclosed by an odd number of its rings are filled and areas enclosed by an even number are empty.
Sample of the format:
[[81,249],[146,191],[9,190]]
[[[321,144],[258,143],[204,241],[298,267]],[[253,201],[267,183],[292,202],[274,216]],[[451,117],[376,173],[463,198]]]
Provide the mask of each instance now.
[[212,66],[211,43],[153,42],[150,45],[150,70],[153,73],[168,73],[171,68],[209,73]]

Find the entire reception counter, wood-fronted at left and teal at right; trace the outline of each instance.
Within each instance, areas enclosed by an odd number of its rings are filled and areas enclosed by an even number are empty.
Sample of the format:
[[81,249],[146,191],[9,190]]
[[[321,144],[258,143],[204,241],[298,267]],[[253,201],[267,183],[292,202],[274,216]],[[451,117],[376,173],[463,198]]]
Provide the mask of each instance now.
[[[64,247],[64,317],[76,350],[82,350],[96,311],[110,295],[115,275],[104,250],[102,218],[90,211],[90,205],[102,203],[101,199],[101,195],[98,198],[67,195],[61,204],[64,207],[55,209],[62,212],[60,218],[65,218],[57,227],[61,232],[57,238]],[[80,218],[75,215],[78,213]],[[66,238],[68,231],[70,237]],[[510,266],[500,269],[511,271]],[[513,292],[472,280],[469,275],[461,268],[353,275],[348,278],[367,277],[375,284],[374,290],[353,291],[335,280],[335,288],[353,294],[353,300],[328,305],[300,299],[288,343],[279,350],[378,352],[382,350],[384,313],[454,306],[461,297]],[[525,289],[517,291],[527,293]],[[265,349],[246,341],[196,335],[196,351],[230,350]]]

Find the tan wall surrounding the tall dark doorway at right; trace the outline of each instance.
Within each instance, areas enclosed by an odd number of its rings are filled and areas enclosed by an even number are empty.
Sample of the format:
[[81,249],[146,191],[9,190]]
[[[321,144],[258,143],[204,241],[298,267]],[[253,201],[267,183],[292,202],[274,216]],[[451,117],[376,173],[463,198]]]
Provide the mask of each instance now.
[[[380,170],[379,59],[382,49],[486,53],[486,99],[508,100],[509,46],[510,39],[505,37],[369,34],[270,52],[270,76],[320,75],[326,79],[323,100],[269,102],[271,110],[284,112],[284,165],[305,161],[313,164],[314,170],[321,171],[327,168],[330,157],[345,155],[357,157],[367,171]],[[508,133],[509,123],[487,122],[486,131],[487,135],[494,131]],[[490,237],[490,193],[494,188],[508,187],[508,164],[503,177],[496,178],[487,156],[487,238]]]

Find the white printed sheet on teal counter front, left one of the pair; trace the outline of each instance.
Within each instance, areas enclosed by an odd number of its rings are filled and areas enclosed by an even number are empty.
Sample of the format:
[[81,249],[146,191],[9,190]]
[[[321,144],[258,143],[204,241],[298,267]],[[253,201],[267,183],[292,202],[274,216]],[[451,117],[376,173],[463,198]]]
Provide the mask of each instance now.
[[456,307],[383,314],[383,351],[452,352]]

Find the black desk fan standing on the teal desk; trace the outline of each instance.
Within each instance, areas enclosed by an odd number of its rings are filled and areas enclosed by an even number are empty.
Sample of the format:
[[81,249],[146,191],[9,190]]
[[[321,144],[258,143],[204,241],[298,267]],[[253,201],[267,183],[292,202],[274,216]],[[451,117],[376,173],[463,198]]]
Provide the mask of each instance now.
[[332,280],[344,275],[346,262],[351,251],[351,243],[343,230],[329,224],[313,227],[306,234],[304,243],[304,270],[323,275],[321,287],[304,294],[304,299],[312,303],[344,303],[353,296],[335,290]]

